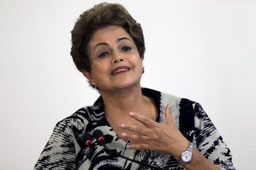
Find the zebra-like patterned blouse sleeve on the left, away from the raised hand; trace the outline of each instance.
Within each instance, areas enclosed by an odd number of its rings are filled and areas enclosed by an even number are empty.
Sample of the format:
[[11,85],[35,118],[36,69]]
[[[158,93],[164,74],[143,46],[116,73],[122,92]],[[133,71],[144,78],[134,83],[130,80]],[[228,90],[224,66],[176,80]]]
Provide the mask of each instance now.
[[34,169],[74,169],[75,145],[69,119],[56,124]]

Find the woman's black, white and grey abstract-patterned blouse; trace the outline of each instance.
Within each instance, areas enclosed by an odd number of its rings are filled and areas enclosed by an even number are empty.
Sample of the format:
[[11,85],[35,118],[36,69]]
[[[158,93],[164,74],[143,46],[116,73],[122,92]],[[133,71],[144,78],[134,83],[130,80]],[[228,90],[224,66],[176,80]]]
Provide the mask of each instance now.
[[[159,113],[157,122],[165,122],[164,111],[170,103],[174,122],[184,137],[192,142],[205,158],[221,169],[235,169],[228,146],[199,103],[148,88],[142,88],[142,94],[154,100]],[[179,167],[171,155],[151,150],[126,149],[127,143],[118,137],[106,121],[101,96],[92,106],[81,108],[56,124],[34,169],[75,169],[77,164],[88,158],[87,156],[89,158],[79,169],[152,169],[119,156],[109,155],[101,145],[94,146],[93,151],[90,151],[89,147],[84,148],[82,136],[85,133],[93,134],[96,129],[100,129],[104,137],[108,138],[106,146],[123,156],[160,169],[185,169]],[[92,142],[95,141],[96,139]],[[89,152],[91,153],[88,154]]]

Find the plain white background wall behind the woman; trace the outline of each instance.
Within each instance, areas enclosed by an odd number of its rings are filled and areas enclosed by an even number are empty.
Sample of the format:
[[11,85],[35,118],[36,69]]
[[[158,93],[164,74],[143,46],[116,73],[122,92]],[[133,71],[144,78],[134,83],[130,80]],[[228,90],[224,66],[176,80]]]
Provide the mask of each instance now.
[[[98,2],[1,0],[1,169],[32,169],[55,124],[98,97],[69,55],[75,20]],[[203,105],[236,168],[251,169],[256,2],[118,2],[142,24],[142,86]]]

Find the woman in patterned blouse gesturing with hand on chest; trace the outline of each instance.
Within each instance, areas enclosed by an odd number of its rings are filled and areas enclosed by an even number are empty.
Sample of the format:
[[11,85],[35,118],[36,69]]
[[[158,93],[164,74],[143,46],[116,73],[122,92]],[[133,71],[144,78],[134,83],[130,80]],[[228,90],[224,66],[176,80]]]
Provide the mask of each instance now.
[[234,169],[199,103],[141,88],[144,50],[141,25],[123,6],[100,3],[80,15],[71,56],[101,96],[56,125],[35,169]]

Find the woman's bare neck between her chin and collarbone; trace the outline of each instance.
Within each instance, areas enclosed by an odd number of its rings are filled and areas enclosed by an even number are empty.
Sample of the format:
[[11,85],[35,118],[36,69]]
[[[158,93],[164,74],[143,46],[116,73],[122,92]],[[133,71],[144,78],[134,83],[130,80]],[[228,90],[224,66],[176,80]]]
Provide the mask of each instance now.
[[101,92],[108,114],[127,115],[129,112],[141,113],[144,105],[141,86],[129,90]]

